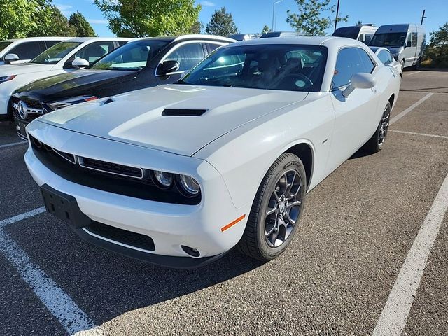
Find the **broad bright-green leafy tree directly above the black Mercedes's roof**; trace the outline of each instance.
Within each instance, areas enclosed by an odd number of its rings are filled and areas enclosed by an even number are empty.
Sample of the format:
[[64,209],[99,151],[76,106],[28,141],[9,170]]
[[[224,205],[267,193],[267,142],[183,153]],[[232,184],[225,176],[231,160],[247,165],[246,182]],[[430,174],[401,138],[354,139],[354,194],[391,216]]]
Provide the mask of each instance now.
[[117,36],[189,34],[199,18],[195,0],[93,0]]

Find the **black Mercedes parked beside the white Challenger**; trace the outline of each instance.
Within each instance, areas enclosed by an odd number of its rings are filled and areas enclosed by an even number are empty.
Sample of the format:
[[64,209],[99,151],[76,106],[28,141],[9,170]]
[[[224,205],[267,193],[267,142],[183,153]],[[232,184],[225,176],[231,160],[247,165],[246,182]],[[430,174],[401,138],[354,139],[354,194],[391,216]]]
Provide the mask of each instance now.
[[[86,100],[155,85],[174,83],[206,55],[230,38],[208,35],[141,38],[114,50],[85,70],[36,80],[16,90],[10,99],[16,130],[25,138],[25,126],[42,113]],[[20,104],[34,106],[20,114]]]

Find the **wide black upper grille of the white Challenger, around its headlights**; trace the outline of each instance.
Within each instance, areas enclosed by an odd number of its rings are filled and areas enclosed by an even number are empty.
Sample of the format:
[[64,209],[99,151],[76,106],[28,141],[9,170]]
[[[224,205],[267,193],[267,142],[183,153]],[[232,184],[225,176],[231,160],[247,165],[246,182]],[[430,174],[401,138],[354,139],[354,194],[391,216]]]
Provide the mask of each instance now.
[[[137,170],[134,170],[134,167],[117,165],[111,162],[90,158],[80,158],[70,153],[55,150],[50,146],[42,144],[36,138],[29,137],[31,140],[31,148],[33,148],[33,152],[38,160],[55,174],[73,183],[97,190],[104,190],[109,193],[136,197],[142,200],[190,205],[200,203],[201,195],[194,198],[184,197],[181,195],[176,185],[167,190],[161,190],[155,186],[151,174],[149,174],[149,171],[146,169],[144,170],[144,176],[142,178],[136,178],[135,176],[119,175],[111,171],[106,172],[104,169],[99,170],[82,167],[80,165],[80,160],[84,160],[84,162],[87,160],[87,162],[90,162],[91,164],[95,162],[97,165],[96,167],[99,167],[100,165],[101,167],[113,167],[113,169],[118,169],[118,167],[120,167],[120,172],[122,173],[125,171],[129,172],[129,174],[137,173]],[[73,163],[73,161],[76,163]],[[141,169],[139,170],[141,171]]]

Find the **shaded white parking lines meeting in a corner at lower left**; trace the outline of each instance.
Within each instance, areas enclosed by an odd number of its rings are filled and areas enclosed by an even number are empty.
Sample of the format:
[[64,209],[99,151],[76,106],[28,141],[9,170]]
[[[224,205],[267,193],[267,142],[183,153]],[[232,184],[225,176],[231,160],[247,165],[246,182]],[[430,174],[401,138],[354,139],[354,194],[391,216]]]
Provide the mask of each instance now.
[[0,252],[14,265],[22,279],[70,335],[101,335],[89,316],[3,230],[6,225],[36,216],[43,211],[45,207],[40,207],[0,221]]

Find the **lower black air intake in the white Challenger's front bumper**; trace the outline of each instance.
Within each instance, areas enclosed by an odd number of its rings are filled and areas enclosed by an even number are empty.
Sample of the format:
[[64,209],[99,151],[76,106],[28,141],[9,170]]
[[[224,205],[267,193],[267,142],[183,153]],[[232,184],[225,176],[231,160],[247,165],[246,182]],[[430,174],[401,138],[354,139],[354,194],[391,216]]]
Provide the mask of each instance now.
[[155,250],[153,239],[147,235],[141,235],[137,232],[115,228],[111,225],[106,225],[95,221],[92,221],[92,223],[87,226],[85,230],[93,233],[94,235],[111,239],[121,244],[142,248],[147,251]]

